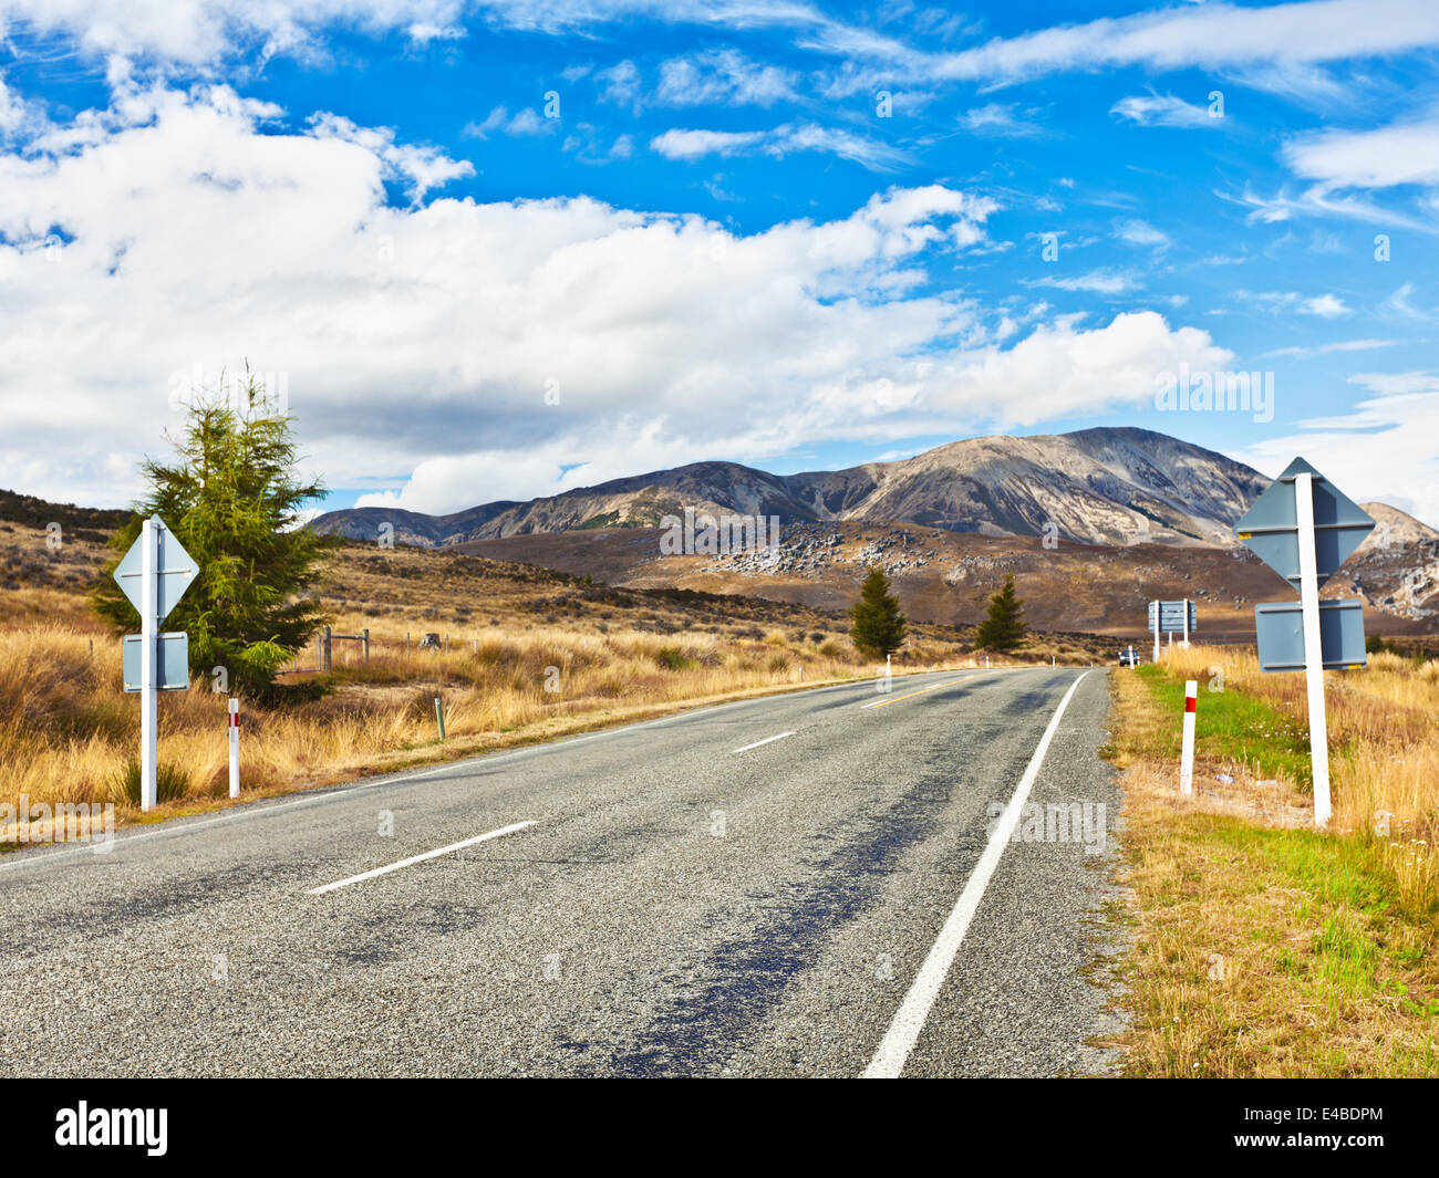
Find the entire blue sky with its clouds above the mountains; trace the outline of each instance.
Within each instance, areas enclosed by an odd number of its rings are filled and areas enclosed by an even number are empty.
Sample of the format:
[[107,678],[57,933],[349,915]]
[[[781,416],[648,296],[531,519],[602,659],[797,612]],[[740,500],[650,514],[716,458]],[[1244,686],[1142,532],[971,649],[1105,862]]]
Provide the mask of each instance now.
[[1439,524],[1430,4],[53,7],[0,0],[0,483],[125,502],[248,361],[327,506],[1132,424]]

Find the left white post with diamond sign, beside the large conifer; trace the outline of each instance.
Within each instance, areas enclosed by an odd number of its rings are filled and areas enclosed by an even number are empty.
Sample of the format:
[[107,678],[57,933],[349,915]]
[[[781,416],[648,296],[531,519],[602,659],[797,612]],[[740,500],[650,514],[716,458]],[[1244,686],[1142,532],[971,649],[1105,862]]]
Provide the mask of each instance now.
[[[157,692],[186,690],[190,686],[184,666],[186,636],[160,633],[176,603],[199,575],[190,554],[158,515],[140,525],[140,538],[115,567],[115,583],[140,611],[140,808],[155,807]],[[137,584],[138,583],[138,584]],[[163,650],[163,640],[178,641]],[[161,654],[165,654],[161,662]],[[171,666],[171,663],[178,666]],[[127,669],[128,670],[128,669]],[[128,675],[127,675],[128,679]],[[125,690],[135,688],[127,683]]]

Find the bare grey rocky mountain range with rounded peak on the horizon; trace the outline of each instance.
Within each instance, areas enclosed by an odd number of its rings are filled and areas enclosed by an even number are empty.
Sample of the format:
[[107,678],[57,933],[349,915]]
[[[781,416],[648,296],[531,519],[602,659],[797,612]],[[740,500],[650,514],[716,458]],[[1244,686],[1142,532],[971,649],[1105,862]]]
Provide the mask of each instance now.
[[730,462],[653,470],[532,499],[432,516],[393,508],[328,512],[311,526],[374,539],[450,545],[580,528],[656,526],[696,512],[794,522],[895,522],[981,535],[1086,544],[1223,544],[1269,480],[1243,463],[1151,430],[1091,429],[976,437],[899,462],[770,475]]

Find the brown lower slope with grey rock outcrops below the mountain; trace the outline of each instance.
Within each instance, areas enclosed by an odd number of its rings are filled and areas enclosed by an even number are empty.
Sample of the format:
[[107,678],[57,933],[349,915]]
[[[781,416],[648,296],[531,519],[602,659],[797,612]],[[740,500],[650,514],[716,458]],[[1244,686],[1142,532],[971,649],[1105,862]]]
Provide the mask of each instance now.
[[[1380,518],[1392,508],[1366,508]],[[1400,518],[1402,516],[1402,518]],[[1366,633],[1439,633],[1439,534],[1402,512],[1413,541],[1361,548],[1321,591],[1360,597]],[[907,524],[802,522],[781,528],[777,548],[673,557],[653,528],[603,528],[482,539],[459,551],[522,561],[636,588],[671,587],[794,601],[823,610],[853,603],[872,565],[894,580],[905,611],[925,621],[973,624],[989,595],[1013,574],[1032,623],[1145,640],[1145,608],[1156,597],[1199,603],[1206,641],[1253,641],[1258,601],[1292,597],[1288,585],[1243,545],[1105,545],[951,532]],[[1430,548],[1435,545],[1435,548]]]

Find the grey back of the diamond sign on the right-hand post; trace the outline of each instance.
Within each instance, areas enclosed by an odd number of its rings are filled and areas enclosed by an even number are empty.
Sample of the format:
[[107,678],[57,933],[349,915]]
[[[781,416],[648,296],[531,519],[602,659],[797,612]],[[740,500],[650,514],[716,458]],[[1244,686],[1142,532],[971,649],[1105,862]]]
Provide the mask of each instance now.
[[1314,476],[1314,557],[1322,585],[1358,548],[1374,521],[1304,459],[1295,459],[1285,467],[1235,525],[1235,534],[1269,568],[1298,587],[1299,522],[1294,505],[1294,476],[1301,472]]

